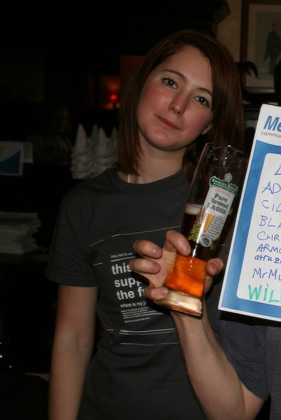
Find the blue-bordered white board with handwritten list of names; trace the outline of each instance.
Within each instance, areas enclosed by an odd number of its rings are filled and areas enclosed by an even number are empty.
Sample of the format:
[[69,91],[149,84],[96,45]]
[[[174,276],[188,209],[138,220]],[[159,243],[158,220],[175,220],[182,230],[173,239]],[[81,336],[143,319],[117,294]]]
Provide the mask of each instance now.
[[263,104],[219,309],[281,321],[281,107]]

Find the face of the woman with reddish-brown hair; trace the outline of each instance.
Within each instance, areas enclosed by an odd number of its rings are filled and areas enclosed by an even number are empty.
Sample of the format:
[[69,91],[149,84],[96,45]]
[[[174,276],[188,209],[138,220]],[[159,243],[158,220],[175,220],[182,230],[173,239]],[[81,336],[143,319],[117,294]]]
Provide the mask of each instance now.
[[148,76],[137,109],[141,145],[178,151],[212,121],[212,73],[199,50],[185,47]]

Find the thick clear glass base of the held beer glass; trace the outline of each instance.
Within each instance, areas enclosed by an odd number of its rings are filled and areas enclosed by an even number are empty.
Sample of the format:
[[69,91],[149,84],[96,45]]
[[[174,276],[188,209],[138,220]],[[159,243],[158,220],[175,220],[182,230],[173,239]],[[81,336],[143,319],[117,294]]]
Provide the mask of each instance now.
[[173,309],[173,311],[184,312],[200,316],[202,314],[202,302],[199,297],[187,295],[186,293],[168,290],[168,295],[161,300],[154,300],[154,303]]

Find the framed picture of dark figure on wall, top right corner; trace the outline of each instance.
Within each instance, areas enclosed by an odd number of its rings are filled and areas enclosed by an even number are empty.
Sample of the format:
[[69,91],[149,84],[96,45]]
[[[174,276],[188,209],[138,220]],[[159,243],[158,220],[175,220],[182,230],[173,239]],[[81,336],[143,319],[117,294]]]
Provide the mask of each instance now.
[[281,60],[281,1],[243,0],[241,62],[253,62],[259,76],[245,76],[245,86],[257,92],[274,92],[274,69]]

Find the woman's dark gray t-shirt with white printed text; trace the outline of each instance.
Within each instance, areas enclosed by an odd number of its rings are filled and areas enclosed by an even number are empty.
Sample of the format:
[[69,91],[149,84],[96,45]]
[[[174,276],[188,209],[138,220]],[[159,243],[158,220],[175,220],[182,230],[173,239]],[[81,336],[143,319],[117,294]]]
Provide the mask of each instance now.
[[57,283],[98,286],[103,325],[80,420],[206,419],[169,311],[143,296],[145,282],[128,265],[136,239],[163,246],[168,230],[180,230],[188,191],[182,172],[129,184],[108,169],[62,202],[46,274]]

